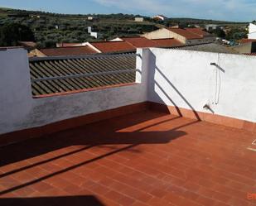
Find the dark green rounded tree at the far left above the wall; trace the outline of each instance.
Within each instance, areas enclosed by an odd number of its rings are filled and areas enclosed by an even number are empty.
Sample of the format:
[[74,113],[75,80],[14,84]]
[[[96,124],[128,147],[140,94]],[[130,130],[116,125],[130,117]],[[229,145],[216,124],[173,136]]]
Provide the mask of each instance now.
[[18,41],[35,41],[28,26],[9,23],[0,27],[0,46],[17,46]]

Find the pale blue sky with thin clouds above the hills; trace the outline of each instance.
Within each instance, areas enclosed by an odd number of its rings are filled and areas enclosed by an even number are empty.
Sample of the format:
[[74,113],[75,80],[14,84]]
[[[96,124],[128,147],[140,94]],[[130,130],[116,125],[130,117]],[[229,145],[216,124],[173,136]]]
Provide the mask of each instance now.
[[0,0],[0,7],[44,12],[132,13],[252,22],[256,0]]

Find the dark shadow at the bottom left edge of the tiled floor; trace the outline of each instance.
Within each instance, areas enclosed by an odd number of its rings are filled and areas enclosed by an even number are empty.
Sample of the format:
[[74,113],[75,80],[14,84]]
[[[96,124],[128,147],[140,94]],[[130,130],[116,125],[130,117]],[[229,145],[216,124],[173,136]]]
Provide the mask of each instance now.
[[91,195],[86,196],[64,196],[64,197],[40,197],[40,198],[8,198],[0,199],[1,206],[104,206],[99,199]]

